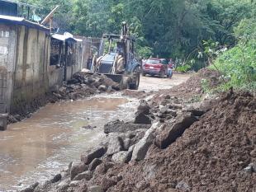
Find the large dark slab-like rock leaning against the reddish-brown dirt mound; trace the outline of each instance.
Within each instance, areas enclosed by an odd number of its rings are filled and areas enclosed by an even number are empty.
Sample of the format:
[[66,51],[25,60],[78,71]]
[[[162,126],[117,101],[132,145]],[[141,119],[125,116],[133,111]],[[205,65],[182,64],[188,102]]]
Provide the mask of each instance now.
[[188,129],[198,119],[192,113],[183,113],[178,115],[175,122],[162,130],[156,137],[155,145],[159,148],[168,148],[168,146],[175,142],[177,138],[181,137],[186,129]]

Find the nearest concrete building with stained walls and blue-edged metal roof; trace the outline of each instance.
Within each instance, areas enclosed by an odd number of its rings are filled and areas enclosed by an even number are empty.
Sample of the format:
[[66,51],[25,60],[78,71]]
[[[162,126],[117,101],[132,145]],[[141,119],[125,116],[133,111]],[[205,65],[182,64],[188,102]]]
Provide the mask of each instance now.
[[50,30],[0,15],[1,113],[15,112],[48,91]]

